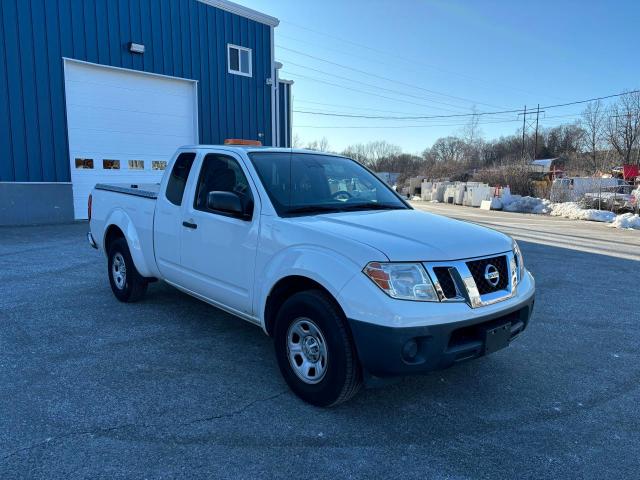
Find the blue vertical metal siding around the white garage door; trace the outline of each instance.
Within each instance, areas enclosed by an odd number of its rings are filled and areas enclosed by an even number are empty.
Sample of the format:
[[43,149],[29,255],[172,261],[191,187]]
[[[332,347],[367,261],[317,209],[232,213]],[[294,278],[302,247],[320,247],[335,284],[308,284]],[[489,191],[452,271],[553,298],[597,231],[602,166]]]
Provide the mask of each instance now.
[[[252,49],[251,78],[227,43]],[[2,0],[0,181],[70,180],[62,57],[198,80],[201,143],[271,144],[269,26],[197,0]]]

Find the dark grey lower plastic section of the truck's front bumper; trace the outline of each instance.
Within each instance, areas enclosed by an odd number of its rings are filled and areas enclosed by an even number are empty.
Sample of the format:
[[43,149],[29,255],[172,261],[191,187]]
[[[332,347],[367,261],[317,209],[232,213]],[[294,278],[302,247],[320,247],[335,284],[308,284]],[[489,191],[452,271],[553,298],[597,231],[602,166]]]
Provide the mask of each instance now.
[[483,335],[487,328],[510,323],[511,342],[527,328],[533,305],[532,296],[497,314],[424,327],[384,327],[354,319],[349,319],[349,325],[360,362],[368,374],[411,375],[483,356]]

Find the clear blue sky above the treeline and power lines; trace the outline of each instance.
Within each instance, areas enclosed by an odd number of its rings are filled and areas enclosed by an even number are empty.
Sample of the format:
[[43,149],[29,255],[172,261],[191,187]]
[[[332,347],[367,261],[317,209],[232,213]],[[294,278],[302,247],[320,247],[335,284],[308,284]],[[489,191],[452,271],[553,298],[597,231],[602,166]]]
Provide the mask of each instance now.
[[[295,81],[295,110],[451,115],[640,88],[638,1],[239,1],[280,19],[276,59],[281,76]],[[582,108],[548,109],[540,124],[571,121]],[[482,118],[487,138],[521,128],[517,114]],[[420,152],[467,121],[294,112],[293,128],[304,141],[326,137],[336,150],[387,140]]]

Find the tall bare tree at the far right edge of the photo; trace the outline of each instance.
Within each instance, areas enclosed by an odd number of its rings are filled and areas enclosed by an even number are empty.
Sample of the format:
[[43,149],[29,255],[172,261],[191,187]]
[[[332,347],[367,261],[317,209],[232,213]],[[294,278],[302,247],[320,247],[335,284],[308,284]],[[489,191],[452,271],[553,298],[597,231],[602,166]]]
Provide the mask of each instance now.
[[640,92],[622,95],[609,110],[607,136],[609,143],[630,164],[633,149],[640,135]]

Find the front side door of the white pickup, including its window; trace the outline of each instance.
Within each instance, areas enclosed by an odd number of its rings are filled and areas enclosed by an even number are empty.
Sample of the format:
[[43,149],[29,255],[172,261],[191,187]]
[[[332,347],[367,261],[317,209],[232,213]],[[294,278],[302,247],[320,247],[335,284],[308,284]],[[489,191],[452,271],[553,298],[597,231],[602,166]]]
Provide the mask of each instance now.
[[[248,178],[240,158],[227,153],[204,156],[183,211],[180,258],[186,288],[251,315],[260,202]],[[211,191],[237,194],[245,215],[210,209]]]

